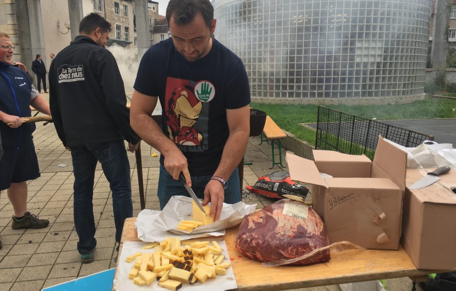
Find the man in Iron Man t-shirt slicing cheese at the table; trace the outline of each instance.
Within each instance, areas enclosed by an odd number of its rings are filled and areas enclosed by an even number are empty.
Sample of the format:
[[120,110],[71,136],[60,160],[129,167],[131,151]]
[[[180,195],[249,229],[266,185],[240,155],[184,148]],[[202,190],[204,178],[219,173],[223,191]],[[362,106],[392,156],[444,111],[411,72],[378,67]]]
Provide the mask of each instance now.
[[[242,60],[211,37],[215,30],[209,0],[171,0],[166,19],[172,38],[141,59],[130,123],[160,151],[160,208],[173,195],[186,195],[178,180],[211,201],[208,213],[220,218],[223,202],[241,201],[237,166],[249,135],[250,89]],[[162,104],[162,129],[150,118]]]

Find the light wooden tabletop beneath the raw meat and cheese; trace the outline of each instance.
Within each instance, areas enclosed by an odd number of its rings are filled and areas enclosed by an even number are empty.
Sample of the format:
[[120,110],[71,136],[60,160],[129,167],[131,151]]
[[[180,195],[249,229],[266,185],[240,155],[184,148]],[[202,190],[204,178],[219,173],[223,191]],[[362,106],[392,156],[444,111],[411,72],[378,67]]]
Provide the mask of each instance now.
[[[134,229],[135,221],[136,218],[125,221],[119,252],[123,242],[140,241]],[[235,249],[234,238],[238,227],[227,229],[224,237],[237,290],[287,290],[407,276],[416,280],[427,274],[442,272],[416,269],[402,247],[398,251],[347,251],[333,254],[326,263],[309,266],[264,268],[260,262],[247,259]]]

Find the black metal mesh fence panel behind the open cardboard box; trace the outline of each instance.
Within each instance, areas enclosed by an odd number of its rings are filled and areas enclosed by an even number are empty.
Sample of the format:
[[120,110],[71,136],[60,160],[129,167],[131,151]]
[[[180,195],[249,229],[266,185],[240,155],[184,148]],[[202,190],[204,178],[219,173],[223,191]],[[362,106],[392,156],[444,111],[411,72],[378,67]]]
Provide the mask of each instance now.
[[434,140],[432,135],[318,106],[316,149],[336,150],[352,155],[365,154],[373,160],[378,135],[407,147],[418,146],[425,140]]

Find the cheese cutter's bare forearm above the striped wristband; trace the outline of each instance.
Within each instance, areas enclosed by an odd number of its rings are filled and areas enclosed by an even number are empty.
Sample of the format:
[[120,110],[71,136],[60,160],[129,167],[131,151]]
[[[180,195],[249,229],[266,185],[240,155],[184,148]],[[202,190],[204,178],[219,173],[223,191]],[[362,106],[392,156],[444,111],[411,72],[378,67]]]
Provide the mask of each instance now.
[[214,176],[224,179],[228,179],[231,176],[234,169],[244,157],[247,148],[248,134],[249,132],[237,131],[229,135],[228,141],[223,148],[222,159],[220,160],[220,164],[218,165]]

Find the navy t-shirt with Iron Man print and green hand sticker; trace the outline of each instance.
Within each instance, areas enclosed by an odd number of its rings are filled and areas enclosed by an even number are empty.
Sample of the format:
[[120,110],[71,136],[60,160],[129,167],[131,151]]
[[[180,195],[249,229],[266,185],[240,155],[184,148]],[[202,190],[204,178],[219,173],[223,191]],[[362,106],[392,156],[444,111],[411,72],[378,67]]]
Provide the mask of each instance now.
[[187,158],[190,174],[213,175],[229,135],[226,110],[250,103],[242,60],[212,38],[209,53],[189,62],[169,38],[144,54],[133,87],[159,97],[163,133]]

